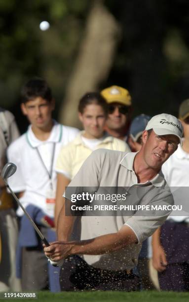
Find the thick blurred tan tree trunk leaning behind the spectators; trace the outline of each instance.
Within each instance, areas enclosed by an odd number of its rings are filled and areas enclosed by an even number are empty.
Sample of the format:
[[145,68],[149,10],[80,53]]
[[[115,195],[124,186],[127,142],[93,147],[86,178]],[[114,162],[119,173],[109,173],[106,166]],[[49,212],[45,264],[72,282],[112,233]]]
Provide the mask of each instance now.
[[112,67],[120,28],[101,0],[95,0],[87,19],[84,38],[70,77],[60,122],[78,127],[79,98],[88,91],[98,90]]

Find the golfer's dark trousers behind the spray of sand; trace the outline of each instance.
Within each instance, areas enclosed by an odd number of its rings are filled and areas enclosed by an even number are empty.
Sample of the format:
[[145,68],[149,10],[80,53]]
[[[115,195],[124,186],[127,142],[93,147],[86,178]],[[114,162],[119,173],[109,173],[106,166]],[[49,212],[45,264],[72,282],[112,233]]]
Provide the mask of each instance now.
[[61,267],[60,286],[61,291],[137,291],[140,290],[140,279],[126,270],[95,268],[73,255],[65,259]]

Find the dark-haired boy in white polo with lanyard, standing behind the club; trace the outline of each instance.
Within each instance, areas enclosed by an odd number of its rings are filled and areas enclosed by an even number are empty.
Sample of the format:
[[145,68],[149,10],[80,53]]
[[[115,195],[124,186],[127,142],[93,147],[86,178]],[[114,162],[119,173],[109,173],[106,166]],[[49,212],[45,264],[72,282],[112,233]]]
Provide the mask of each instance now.
[[[78,130],[63,126],[52,119],[55,107],[51,89],[45,80],[29,80],[21,91],[21,109],[30,121],[29,129],[8,148],[8,160],[15,163],[17,171],[9,179],[14,192],[27,208],[39,227],[55,237],[52,230],[56,190],[54,164],[60,148],[72,141]],[[17,275],[23,290],[41,290],[48,286],[47,259],[43,257],[41,242],[19,208],[21,216]],[[48,237],[48,234],[46,234]],[[20,264],[18,264],[20,263]],[[36,266],[36,263],[38,266]],[[51,291],[59,291],[57,273],[50,274]],[[52,271],[51,271],[52,272]],[[54,282],[54,284],[53,284]]]

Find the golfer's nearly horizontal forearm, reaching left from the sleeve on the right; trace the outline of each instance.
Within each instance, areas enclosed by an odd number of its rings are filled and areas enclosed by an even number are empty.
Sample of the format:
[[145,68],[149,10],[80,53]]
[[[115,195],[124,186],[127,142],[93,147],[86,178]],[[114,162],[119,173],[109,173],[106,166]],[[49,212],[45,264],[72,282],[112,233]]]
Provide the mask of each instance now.
[[134,233],[130,231],[127,234],[117,232],[90,240],[73,242],[71,254],[102,255],[136,242],[137,238]]

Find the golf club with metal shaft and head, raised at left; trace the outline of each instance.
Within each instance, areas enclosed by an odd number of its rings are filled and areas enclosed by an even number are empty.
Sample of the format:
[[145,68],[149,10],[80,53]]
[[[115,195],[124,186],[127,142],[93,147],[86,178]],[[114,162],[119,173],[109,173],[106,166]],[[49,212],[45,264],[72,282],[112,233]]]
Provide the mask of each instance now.
[[26,216],[28,217],[28,219],[30,220],[31,224],[33,225],[33,227],[35,228],[35,230],[37,231],[39,237],[41,238],[42,242],[46,245],[49,246],[48,241],[46,240],[46,238],[43,236],[43,234],[41,233],[41,231],[39,230],[39,228],[37,227],[37,225],[35,224],[35,222],[33,221],[33,219],[30,217],[30,215],[28,214],[28,212],[25,210],[25,208],[23,207],[23,205],[21,204],[21,202],[19,201],[19,199],[16,197],[15,193],[12,191],[12,189],[9,187],[6,179],[9,178],[10,176],[12,176],[14,173],[16,172],[16,165],[13,164],[12,162],[8,162],[5,164],[5,166],[2,169],[1,172],[1,177],[5,183],[5,186],[9,189],[10,193],[12,194],[12,196],[14,197],[14,199],[16,200],[16,202],[18,203],[18,205],[22,208],[22,210],[24,211],[24,213],[26,214]]

